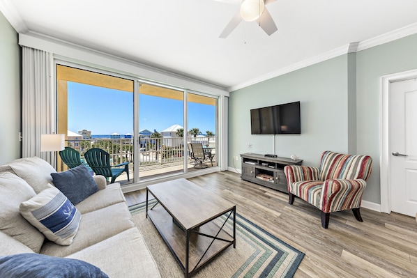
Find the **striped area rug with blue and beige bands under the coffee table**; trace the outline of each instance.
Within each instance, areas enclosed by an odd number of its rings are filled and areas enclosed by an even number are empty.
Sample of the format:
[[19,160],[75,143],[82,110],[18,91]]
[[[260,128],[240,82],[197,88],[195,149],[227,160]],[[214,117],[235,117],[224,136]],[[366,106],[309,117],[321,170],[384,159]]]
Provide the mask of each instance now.
[[[145,217],[146,202],[129,209],[155,258],[161,277],[183,277],[162,237]],[[227,222],[225,229],[232,233],[232,221]],[[193,277],[293,277],[303,257],[302,252],[236,213],[236,248],[228,247]]]

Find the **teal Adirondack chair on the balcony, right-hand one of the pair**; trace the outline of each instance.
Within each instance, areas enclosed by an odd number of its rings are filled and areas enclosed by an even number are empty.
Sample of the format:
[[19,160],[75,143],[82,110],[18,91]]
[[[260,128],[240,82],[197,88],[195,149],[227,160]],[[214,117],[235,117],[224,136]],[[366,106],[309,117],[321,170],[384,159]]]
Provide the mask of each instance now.
[[114,180],[120,176],[123,172],[126,172],[129,178],[129,162],[123,162],[114,166],[110,165],[110,155],[107,151],[101,148],[91,148],[84,153],[86,162],[89,167],[93,169],[96,175],[105,176],[105,178],[112,178],[110,183],[114,183]]

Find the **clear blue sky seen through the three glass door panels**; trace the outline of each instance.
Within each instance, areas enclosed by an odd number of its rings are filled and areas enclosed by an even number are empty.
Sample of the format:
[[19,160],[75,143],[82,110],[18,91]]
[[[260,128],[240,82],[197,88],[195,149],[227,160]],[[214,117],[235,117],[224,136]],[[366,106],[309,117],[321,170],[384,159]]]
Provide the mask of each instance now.
[[[215,107],[190,102],[188,128],[215,133]],[[183,123],[183,102],[139,95],[139,129],[158,132]],[[133,95],[98,86],[68,82],[68,130],[91,134],[133,133]]]

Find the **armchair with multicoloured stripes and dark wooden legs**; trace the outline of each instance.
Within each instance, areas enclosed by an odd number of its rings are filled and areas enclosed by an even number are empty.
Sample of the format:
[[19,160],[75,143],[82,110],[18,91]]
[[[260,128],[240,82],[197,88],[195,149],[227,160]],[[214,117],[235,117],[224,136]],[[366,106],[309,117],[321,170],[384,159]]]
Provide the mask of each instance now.
[[289,203],[295,196],[321,210],[321,226],[328,228],[330,213],[351,209],[363,222],[359,209],[366,180],[372,171],[368,155],[344,155],[325,151],[320,167],[289,165],[284,168],[288,182]]

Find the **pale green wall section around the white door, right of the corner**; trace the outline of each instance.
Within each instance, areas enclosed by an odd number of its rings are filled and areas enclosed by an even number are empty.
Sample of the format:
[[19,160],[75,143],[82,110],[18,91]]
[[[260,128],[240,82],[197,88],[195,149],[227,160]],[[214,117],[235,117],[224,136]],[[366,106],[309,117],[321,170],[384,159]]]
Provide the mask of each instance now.
[[381,77],[417,68],[417,35],[356,54],[358,153],[372,156],[374,166],[363,199],[381,203],[379,183],[379,100]]

